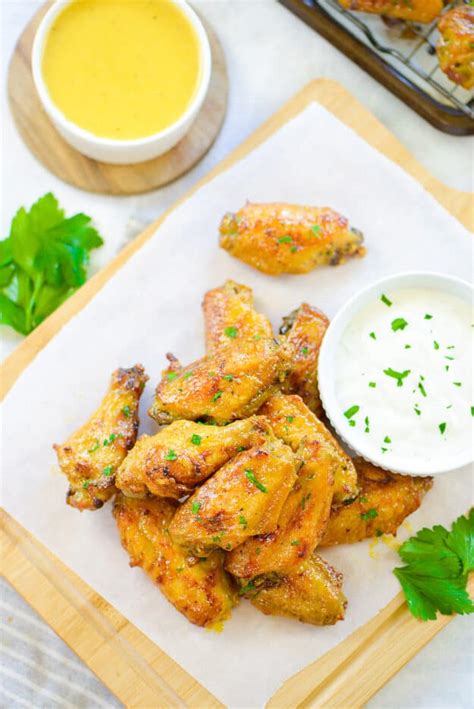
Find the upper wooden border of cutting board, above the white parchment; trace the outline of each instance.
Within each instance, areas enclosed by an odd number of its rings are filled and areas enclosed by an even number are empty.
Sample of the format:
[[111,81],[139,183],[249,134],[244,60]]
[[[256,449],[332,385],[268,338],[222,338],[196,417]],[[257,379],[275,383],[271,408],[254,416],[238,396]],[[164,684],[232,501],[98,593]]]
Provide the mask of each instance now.
[[[36,357],[38,352],[81,310],[105,283],[150,239],[165,219],[181,204],[214,177],[225,172],[235,162],[243,159],[263,143],[284,123],[294,118],[309,103],[317,101],[358,135],[397,163],[408,174],[430,191],[436,199],[467,228],[474,226],[471,196],[447,187],[434,178],[411,153],[344,87],[330,79],[315,79],[307,84],[274,115],[265,121],[241,145],[199,180],[183,197],[167,209],[159,219],[148,226],[133,242],[128,244],[101,271],[85,283],[71,298],[50,315],[7,357],[0,367],[0,400],[11,389],[21,372]],[[359,124],[360,122],[360,124]],[[455,205],[451,207],[451,202]],[[217,239],[217,237],[216,237]],[[217,242],[216,242],[217,243]]]

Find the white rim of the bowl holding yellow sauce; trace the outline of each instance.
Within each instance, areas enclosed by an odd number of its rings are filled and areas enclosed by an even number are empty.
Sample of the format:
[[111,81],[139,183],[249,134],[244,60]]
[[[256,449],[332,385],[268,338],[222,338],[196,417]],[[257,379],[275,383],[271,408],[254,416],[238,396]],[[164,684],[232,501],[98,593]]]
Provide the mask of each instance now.
[[71,133],[75,134],[77,137],[87,140],[89,143],[96,146],[123,148],[145,146],[156,142],[157,139],[167,138],[169,135],[179,130],[179,128],[181,128],[181,126],[186,123],[189,116],[192,115],[194,108],[201,104],[205,94],[207,93],[209,81],[211,78],[211,48],[209,46],[209,40],[207,38],[206,30],[204,29],[201,20],[199,19],[195,11],[192,9],[192,7],[188,5],[186,0],[171,0],[171,2],[177,5],[181,9],[181,11],[186,15],[188,20],[191,22],[194,31],[196,32],[201,52],[201,76],[199,79],[199,85],[197,87],[197,90],[195,91],[191,103],[177,121],[169,125],[167,128],[158,131],[157,133],[147,135],[145,138],[134,138],[133,140],[116,140],[114,138],[105,138],[97,136],[94,133],[90,133],[88,130],[81,128],[76,123],[70,121],[51,99],[49,91],[46,87],[46,83],[43,79],[42,59],[45,41],[48,36],[49,29],[56,17],[71,2],[73,2],[73,0],[55,0],[53,5],[49,8],[48,12],[41,20],[33,42],[33,79],[35,82],[36,90],[38,91],[42,103],[45,105],[54,120],[56,120],[57,123],[59,123],[60,125],[65,126]]

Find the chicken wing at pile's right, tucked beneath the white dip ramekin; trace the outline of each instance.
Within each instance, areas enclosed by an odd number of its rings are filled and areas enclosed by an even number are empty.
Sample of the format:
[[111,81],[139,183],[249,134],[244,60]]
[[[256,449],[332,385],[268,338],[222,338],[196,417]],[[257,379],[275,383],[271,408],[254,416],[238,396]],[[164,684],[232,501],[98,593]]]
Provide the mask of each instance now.
[[408,515],[421,505],[433,478],[389,473],[355,458],[360,495],[332,511],[321,546],[353,544],[368,537],[396,534]]

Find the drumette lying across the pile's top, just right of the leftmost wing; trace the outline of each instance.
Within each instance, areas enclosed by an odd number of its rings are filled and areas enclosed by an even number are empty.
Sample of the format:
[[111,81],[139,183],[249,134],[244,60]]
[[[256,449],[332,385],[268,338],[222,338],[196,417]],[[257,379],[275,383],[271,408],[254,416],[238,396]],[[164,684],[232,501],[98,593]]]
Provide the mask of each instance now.
[[228,426],[174,421],[154,436],[141,436],[117,471],[116,486],[126,495],[179,499],[227,463],[243,448],[272,435],[263,416]]

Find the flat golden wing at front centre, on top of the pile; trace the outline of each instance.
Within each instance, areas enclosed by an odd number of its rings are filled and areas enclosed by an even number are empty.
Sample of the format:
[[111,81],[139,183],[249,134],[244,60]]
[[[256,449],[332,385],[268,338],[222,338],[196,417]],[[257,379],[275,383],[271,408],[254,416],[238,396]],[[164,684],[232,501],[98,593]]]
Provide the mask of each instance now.
[[281,441],[242,451],[179,508],[171,535],[196,553],[233,549],[276,528],[295,480],[295,457]]

